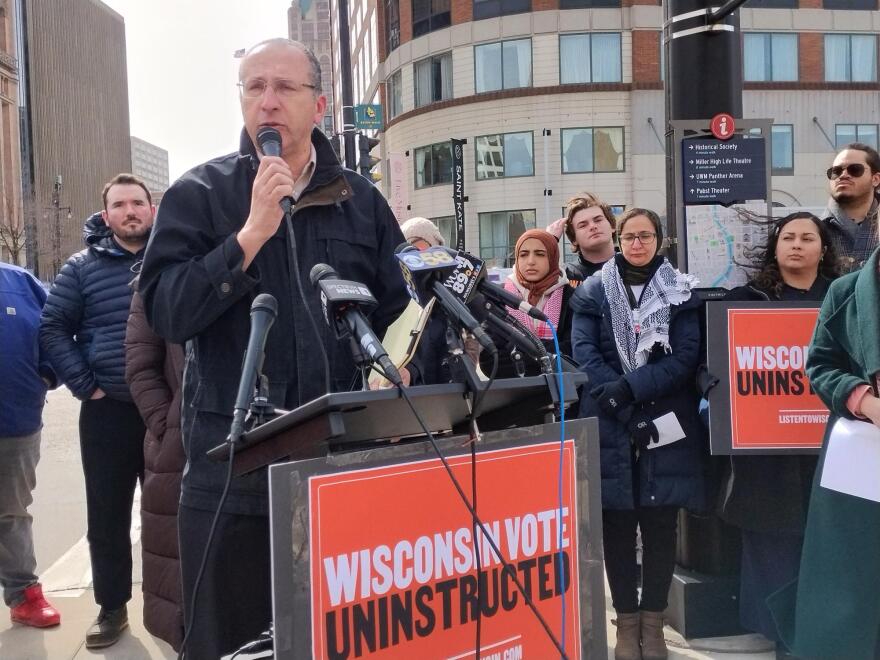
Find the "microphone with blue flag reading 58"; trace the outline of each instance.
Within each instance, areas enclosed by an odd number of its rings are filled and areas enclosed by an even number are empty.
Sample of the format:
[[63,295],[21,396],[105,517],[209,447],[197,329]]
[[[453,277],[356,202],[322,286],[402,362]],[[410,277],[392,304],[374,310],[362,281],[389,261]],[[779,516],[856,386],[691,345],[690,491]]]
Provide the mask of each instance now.
[[470,332],[489,353],[498,353],[495,342],[486,334],[479,321],[438,279],[445,278],[457,266],[455,259],[444,248],[419,250],[409,243],[403,243],[398,246],[395,256],[407,290],[416,302],[424,307],[428,300],[436,298],[449,320]]

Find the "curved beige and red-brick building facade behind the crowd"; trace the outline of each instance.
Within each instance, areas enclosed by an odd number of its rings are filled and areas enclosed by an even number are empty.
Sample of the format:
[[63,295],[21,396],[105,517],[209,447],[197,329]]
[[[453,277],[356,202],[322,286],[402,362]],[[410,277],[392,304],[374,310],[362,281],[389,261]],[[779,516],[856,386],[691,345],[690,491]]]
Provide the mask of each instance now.
[[[666,208],[659,1],[375,2],[351,6],[355,102],[384,105],[383,187],[406,217],[453,238],[450,138],[467,140],[467,249],[493,265],[578,191]],[[774,203],[823,206],[837,146],[877,146],[878,2],[746,7],[743,109],[774,121]]]

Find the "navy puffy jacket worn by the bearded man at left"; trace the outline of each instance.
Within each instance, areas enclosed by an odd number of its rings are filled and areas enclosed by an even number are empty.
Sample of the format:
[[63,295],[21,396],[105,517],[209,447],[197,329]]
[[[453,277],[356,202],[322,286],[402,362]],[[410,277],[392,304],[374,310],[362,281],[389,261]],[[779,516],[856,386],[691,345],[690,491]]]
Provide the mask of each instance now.
[[113,240],[100,213],[83,226],[86,249],[71,256],[52,284],[40,319],[40,347],[58,380],[78,399],[101,388],[131,401],[125,383],[125,327],[132,267],[143,258]]

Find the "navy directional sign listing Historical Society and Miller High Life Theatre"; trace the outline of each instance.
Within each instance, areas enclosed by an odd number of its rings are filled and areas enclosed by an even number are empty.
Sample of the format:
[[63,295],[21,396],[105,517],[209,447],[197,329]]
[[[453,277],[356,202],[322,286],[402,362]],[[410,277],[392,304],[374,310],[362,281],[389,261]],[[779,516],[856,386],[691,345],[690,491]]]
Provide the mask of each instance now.
[[685,204],[733,204],[767,199],[764,138],[735,135],[683,140],[682,183]]

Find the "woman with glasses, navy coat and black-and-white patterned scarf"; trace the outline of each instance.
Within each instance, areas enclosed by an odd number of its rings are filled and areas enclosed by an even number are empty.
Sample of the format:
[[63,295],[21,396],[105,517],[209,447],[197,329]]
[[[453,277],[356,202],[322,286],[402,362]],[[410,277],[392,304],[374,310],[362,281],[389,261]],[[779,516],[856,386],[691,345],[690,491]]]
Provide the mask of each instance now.
[[[572,298],[572,349],[590,377],[580,416],[599,418],[605,568],[617,612],[614,657],[663,660],[678,510],[704,505],[704,431],[693,386],[700,302],[691,291],[696,280],[659,254],[656,213],[630,209],[617,232],[620,254]],[[655,423],[661,417],[672,427],[662,436]]]

